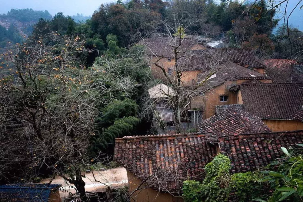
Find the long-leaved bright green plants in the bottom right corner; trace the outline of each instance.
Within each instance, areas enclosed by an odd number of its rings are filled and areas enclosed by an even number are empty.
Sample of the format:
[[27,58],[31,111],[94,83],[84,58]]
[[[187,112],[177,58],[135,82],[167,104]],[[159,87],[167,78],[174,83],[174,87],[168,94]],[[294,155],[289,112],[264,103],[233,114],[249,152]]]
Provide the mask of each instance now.
[[303,145],[298,146],[290,153],[282,147],[285,157],[268,165],[273,171],[262,172],[265,177],[260,181],[270,182],[275,190],[269,201],[303,201]]

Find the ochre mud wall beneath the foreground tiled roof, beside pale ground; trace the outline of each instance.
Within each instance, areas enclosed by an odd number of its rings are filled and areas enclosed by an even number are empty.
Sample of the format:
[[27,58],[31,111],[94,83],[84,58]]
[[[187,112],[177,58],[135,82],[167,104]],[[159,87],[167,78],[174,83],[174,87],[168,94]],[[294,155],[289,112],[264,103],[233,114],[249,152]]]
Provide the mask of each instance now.
[[[127,171],[129,193],[132,193],[141,184],[141,180]],[[144,185],[142,186],[144,187]],[[159,192],[151,188],[136,191],[131,196],[131,202],[183,202],[181,197],[174,197],[169,193]]]

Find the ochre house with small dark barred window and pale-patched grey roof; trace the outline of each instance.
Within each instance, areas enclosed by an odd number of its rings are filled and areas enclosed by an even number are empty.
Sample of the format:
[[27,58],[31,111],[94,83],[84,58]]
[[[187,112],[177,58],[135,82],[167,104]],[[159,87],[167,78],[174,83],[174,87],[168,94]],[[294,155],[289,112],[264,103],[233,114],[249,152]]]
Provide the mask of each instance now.
[[[210,75],[211,71],[214,71]],[[261,72],[261,73],[260,73]],[[258,71],[241,65],[225,62],[218,70],[208,70],[198,74],[198,89],[200,94],[191,99],[191,109],[199,108],[203,111],[203,119],[215,114],[216,105],[237,104],[237,91],[243,83],[271,83]]]

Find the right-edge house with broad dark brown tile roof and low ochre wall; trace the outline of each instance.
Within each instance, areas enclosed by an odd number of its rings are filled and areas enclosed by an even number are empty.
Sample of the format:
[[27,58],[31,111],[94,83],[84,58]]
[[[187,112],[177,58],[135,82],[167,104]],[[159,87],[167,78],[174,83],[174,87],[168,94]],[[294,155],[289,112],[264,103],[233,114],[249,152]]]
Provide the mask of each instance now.
[[242,84],[237,104],[262,119],[271,131],[303,129],[303,84]]

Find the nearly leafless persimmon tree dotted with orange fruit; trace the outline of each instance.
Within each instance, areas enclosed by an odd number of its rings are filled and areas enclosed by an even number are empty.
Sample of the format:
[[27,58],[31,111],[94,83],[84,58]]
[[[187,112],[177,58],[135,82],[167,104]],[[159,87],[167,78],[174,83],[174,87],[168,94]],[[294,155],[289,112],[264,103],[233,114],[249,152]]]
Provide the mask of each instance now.
[[115,65],[85,67],[77,57],[90,51],[83,43],[50,33],[5,54],[13,67],[0,81],[2,180],[59,175],[86,201],[81,171],[99,157],[88,153],[97,106],[111,103],[113,91],[131,94],[136,84]]

